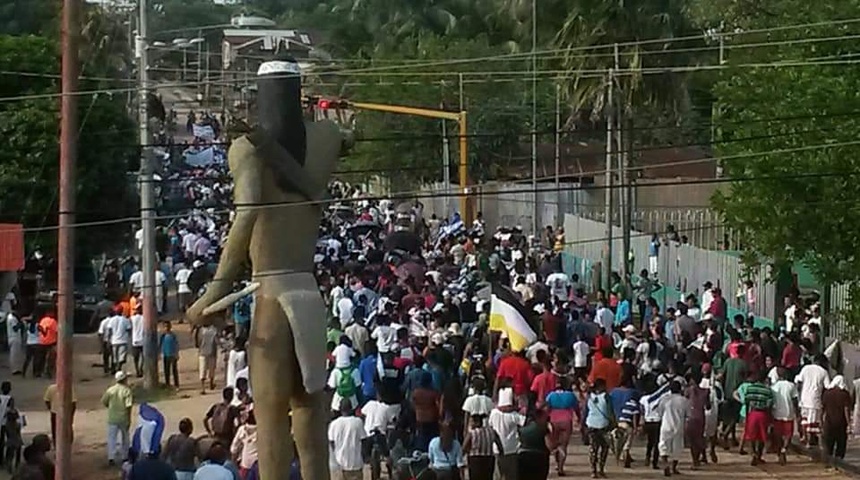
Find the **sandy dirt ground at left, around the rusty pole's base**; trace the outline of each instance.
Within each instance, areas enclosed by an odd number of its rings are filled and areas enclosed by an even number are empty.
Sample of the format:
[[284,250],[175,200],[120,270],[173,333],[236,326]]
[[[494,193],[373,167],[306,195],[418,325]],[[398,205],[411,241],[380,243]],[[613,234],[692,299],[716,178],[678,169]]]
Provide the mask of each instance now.
[[[182,345],[179,357],[180,389],[173,395],[163,395],[155,402],[165,416],[166,434],[175,432],[179,420],[185,417],[193,420],[195,435],[205,434],[203,416],[208,407],[218,401],[220,388],[225,382],[224,370],[219,368],[218,374],[221,380],[216,385],[219,390],[206,395],[200,394],[197,352],[193,348],[189,330],[188,325],[174,323],[174,331]],[[75,393],[78,400],[74,420],[74,479],[116,480],[120,478],[119,470],[109,468],[107,465],[106,412],[99,403],[102,393],[113,383],[113,380],[102,372],[96,335],[76,335],[74,349]],[[131,360],[130,356],[129,360]],[[126,370],[129,369],[133,367],[127,364]],[[163,380],[163,376],[161,378]],[[43,395],[45,388],[53,381],[45,378],[12,377],[8,368],[8,357],[4,354],[0,356],[0,380],[7,379],[12,382],[15,402],[27,419],[27,426],[24,428],[25,443],[29,443],[29,439],[36,434],[49,434],[49,415],[45,409]],[[132,376],[130,384],[142,385],[142,379]],[[132,423],[135,416],[136,412],[132,414]],[[8,478],[5,471],[0,472],[0,480]]]

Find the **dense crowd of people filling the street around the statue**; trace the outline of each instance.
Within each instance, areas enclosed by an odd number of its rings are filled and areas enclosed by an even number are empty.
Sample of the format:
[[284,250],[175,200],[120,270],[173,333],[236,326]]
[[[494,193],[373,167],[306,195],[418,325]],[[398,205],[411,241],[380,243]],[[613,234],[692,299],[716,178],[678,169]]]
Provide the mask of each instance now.
[[[822,351],[817,305],[792,300],[790,328],[774,330],[729,318],[710,282],[661,308],[647,268],[589,292],[561,268],[563,230],[540,239],[518,227],[491,233],[480,216],[465,225],[456,216],[425,218],[417,202],[365,200],[343,184],[330,193],[340,203],[322,222],[315,263],[328,305],[335,478],[364,478],[368,464],[374,478],[547,478],[553,468],[567,473],[571,441],[589,446],[598,478],[610,454],[633,465],[640,435],[638,461],[666,476],[730,449],[753,465],[771,453],[785,463],[795,431],[830,457],[844,456],[850,419],[858,418],[854,385]],[[179,227],[169,242],[174,265],[217,261],[217,249],[186,240],[223,224]],[[535,340],[525,348],[491,328],[491,285],[509,288],[528,313]],[[161,452],[176,478],[256,478],[244,353],[253,300],[237,302],[231,317],[228,335],[197,333],[201,387],[216,388],[221,360],[227,388],[205,416],[205,450],[184,419]],[[291,479],[300,478],[299,463]],[[128,478],[144,478],[135,476],[140,468]]]

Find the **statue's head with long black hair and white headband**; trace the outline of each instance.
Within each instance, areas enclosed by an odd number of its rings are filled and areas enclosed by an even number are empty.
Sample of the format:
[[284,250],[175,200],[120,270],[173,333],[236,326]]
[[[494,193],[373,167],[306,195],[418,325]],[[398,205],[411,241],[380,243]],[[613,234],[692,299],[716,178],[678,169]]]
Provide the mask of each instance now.
[[301,164],[307,152],[302,116],[302,73],[298,62],[288,55],[264,62],[257,70],[257,119]]

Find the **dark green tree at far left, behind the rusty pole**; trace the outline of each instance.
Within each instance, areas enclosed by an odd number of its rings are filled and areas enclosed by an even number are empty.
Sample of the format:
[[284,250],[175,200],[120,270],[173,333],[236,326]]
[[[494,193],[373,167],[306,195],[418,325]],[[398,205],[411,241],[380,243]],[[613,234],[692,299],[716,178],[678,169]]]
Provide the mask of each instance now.
[[[0,75],[0,217],[27,227],[56,224],[59,146],[59,50],[53,40],[0,36],[2,71],[28,71],[27,76]],[[98,72],[93,72],[98,74]],[[100,82],[82,80],[92,91]],[[14,97],[28,97],[14,100]],[[134,126],[125,97],[99,94],[79,97],[80,135],[77,168],[79,221],[128,215],[131,203],[126,165],[135,155]],[[81,229],[79,254],[95,253],[115,240],[124,226]],[[30,241],[52,243],[54,232]]]

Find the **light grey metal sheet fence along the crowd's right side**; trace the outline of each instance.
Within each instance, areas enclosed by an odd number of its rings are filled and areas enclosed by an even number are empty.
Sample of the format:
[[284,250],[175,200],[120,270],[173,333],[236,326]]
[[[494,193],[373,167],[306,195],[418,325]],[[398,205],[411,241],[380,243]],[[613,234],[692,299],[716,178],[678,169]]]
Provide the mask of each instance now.
[[[598,283],[598,266],[608,245],[606,226],[576,215],[565,215],[564,229],[567,241],[566,252],[573,257],[573,270],[582,281],[589,285]],[[633,271],[651,269],[648,256],[651,235],[639,231],[631,234]],[[625,254],[622,250],[622,230],[613,227],[612,265],[620,269]],[[708,250],[692,244],[675,242],[662,243],[657,256],[657,277],[667,287],[667,294],[678,298],[666,299],[669,302],[680,300],[689,293],[699,294],[706,281],[713,282],[723,290],[729,305],[756,316],[773,319],[776,315],[776,290],[769,283],[769,267],[763,266],[747,274],[747,269],[737,256],[727,252]],[[747,307],[743,291],[745,280],[753,282],[756,302]]]

